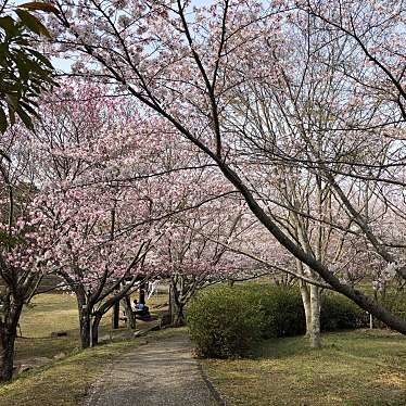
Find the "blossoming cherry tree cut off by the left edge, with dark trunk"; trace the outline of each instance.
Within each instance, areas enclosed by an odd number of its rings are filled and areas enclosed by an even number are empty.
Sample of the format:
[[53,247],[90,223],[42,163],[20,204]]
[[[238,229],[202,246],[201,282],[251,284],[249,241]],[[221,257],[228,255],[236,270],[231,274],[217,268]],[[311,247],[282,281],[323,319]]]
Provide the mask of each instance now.
[[[0,141],[0,381],[13,372],[14,343],[24,304],[48,272],[54,240],[33,185],[33,165],[18,128]],[[8,158],[5,158],[8,156]]]

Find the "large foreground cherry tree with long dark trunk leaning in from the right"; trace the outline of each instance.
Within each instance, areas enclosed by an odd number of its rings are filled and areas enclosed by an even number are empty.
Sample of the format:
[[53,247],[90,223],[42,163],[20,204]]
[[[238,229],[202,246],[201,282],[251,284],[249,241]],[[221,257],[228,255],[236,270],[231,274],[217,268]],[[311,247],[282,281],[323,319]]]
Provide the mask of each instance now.
[[[356,198],[345,192],[345,179],[353,176],[351,168],[358,168],[360,157],[364,160],[359,167],[364,169],[356,174],[358,179],[403,181],[403,175],[398,178],[403,174],[402,153],[396,152],[402,150],[394,148],[402,143],[404,132],[404,36],[399,35],[404,11],[397,7],[401,2],[391,8],[384,3],[381,9],[372,0],[339,2],[331,10],[328,2],[289,1],[224,0],[199,9],[181,0],[74,4],[55,1],[54,4],[60,10],[53,26],[60,51],[85,55],[85,63],[76,66],[77,73],[115,83],[117,89],[127,91],[143,106],[140,109],[165,119],[179,137],[212,160],[241,193],[258,221],[286,250],[334,290],[388,326],[406,332],[404,319],[343,281],[329,263],[304,250],[280,227],[253,187],[255,172],[251,166],[264,158],[268,166],[283,160],[318,173],[343,204],[352,224],[368,240],[369,248],[386,264],[396,264],[396,274],[405,278],[399,254],[392,253],[386,249],[388,243],[377,238],[360,214]],[[307,29],[307,35],[297,34],[303,29],[305,33]],[[303,50],[307,58],[300,59]],[[338,63],[325,74],[322,66],[329,64],[326,59],[331,56]],[[363,61],[366,67],[359,69]],[[308,71],[308,66],[314,68]],[[96,71],[89,72],[93,67]],[[312,77],[318,67],[322,75]],[[294,72],[302,75],[291,81]],[[307,89],[312,79],[317,79],[313,81],[314,87],[333,86],[322,87],[318,99],[309,98]],[[337,94],[339,79],[342,80],[341,97],[328,106],[329,117],[341,120],[341,127],[330,128],[322,101]],[[258,94],[250,89],[257,85],[261,92],[264,83],[268,88],[283,84],[284,92],[291,92],[290,104],[282,107],[301,118],[295,120],[299,127],[291,131],[296,147],[293,156],[278,151],[271,137],[250,131],[244,125],[244,111],[236,109],[236,94],[245,92],[251,105]],[[348,105],[353,109],[346,110]],[[322,114],[323,126],[319,128]],[[391,119],[393,114],[395,118]],[[279,125],[275,117],[269,115],[268,119],[271,126]],[[321,145],[321,154],[320,145],[314,141],[328,131],[331,137]],[[363,156],[363,148],[371,134],[379,142],[373,142],[376,148],[367,149],[370,153]],[[371,164],[370,158],[380,152],[389,156],[384,142],[381,143],[388,135],[394,140],[390,163]],[[357,143],[358,140],[363,142]],[[357,147],[356,151],[353,147]],[[258,150],[266,153],[258,154]],[[371,174],[365,175],[366,170]],[[389,176],[383,176],[388,172]]]

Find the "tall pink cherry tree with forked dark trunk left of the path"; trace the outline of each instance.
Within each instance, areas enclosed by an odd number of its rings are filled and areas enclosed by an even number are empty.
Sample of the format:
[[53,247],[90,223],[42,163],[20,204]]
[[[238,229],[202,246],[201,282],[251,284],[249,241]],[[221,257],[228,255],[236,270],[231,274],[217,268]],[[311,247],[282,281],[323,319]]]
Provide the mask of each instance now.
[[42,157],[42,212],[59,237],[54,269],[77,297],[83,347],[98,343],[103,315],[137,287],[158,236],[147,191],[119,185],[142,169],[143,151],[128,141],[135,122],[125,103],[104,100],[105,90],[65,81],[62,94],[43,101],[33,141]]

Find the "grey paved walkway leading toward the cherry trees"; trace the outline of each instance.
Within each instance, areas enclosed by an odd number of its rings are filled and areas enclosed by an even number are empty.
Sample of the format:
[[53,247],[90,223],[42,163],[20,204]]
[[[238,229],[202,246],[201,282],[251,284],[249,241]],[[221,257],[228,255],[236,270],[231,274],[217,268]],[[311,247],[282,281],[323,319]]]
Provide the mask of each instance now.
[[214,406],[187,337],[138,346],[110,365],[86,406]]

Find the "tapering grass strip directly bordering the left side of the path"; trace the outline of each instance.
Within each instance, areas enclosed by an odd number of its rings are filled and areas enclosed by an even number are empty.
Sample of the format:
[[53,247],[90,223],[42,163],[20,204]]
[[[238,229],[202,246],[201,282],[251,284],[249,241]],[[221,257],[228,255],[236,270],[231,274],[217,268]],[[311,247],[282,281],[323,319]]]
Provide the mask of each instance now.
[[185,334],[185,329],[151,332],[147,338],[120,341],[81,351],[41,368],[24,372],[10,384],[0,386],[0,405],[74,406],[80,404],[90,385],[112,358],[126,351],[170,334]]

